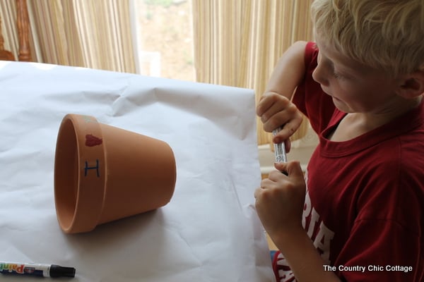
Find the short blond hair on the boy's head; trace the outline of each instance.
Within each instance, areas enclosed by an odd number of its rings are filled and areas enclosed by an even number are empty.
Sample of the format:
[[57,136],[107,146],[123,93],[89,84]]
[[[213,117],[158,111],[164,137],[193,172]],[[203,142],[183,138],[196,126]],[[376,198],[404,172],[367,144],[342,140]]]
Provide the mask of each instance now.
[[314,32],[326,44],[389,75],[424,71],[423,0],[315,0]]

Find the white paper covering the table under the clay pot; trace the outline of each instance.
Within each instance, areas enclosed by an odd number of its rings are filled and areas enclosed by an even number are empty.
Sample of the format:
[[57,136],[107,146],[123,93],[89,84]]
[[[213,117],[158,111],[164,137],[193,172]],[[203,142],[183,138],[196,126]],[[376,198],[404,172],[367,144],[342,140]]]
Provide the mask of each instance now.
[[[177,163],[171,202],[64,234],[53,168],[68,113],[167,142]],[[273,281],[254,210],[254,116],[252,90],[0,61],[0,262],[73,266],[71,281]]]

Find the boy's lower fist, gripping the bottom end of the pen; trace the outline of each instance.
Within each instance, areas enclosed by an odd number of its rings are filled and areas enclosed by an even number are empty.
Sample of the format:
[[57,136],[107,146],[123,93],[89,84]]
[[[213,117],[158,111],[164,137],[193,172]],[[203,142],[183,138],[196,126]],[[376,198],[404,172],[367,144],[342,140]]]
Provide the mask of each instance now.
[[[269,173],[254,192],[256,209],[266,232],[278,238],[302,230],[306,184],[298,161],[276,163],[278,171]],[[285,176],[281,171],[287,171]]]

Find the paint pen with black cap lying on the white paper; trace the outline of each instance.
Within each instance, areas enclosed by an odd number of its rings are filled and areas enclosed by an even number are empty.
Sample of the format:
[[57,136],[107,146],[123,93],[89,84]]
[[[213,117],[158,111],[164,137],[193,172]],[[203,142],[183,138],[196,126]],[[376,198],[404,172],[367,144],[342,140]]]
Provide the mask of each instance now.
[[1,274],[17,274],[41,277],[75,277],[73,267],[57,264],[27,264],[20,262],[0,262]]

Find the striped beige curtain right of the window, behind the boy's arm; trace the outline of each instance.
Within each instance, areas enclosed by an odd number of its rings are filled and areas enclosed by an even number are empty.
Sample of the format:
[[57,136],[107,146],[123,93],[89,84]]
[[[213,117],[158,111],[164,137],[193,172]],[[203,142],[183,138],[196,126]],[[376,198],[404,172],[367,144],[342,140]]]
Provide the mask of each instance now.
[[[196,80],[254,89],[257,101],[285,49],[312,39],[312,0],[192,1]],[[307,127],[302,123],[293,140]],[[270,140],[258,119],[259,145]]]

